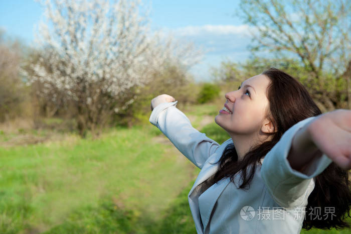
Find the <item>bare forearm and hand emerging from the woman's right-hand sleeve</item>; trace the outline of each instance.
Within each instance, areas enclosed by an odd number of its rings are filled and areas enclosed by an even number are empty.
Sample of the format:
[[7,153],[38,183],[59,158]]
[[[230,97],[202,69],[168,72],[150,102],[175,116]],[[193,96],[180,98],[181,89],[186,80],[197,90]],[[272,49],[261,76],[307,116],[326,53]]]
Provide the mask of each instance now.
[[351,110],[321,114],[299,130],[287,157],[300,172],[322,154],[344,169],[351,169]]

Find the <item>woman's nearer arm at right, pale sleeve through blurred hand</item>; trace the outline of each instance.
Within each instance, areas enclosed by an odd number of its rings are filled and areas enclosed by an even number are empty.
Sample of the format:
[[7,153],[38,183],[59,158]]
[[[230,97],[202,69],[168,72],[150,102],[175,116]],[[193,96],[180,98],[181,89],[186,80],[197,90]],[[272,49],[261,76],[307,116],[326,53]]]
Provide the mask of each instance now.
[[334,161],[351,168],[351,111],[337,110],[291,127],[266,155],[261,177],[283,207],[307,203],[313,177]]

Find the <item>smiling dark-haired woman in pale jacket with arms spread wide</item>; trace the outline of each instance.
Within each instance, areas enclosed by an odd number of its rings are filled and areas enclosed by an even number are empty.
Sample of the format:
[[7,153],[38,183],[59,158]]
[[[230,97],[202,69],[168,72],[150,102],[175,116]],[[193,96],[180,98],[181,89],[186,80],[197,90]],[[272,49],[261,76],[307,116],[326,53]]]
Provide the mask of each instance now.
[[173,97],[151,101],[150,122],[201,169],[189,193],[198,233],[348,227],[351,111],[321,114],[274,68],[225,97],[215,118],[231,137],[222,145],[195,130]]

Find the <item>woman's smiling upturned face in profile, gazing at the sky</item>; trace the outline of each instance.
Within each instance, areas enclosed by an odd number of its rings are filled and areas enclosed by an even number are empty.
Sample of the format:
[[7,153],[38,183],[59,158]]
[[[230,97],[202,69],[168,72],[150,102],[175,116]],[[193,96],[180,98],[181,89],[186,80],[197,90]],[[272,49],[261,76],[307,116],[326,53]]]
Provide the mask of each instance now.
[[238,90],[226,93],[227,101],[216,123],[231,136],[257,136],[267,117],[269,83],[269,78],[260,74],[245,80]]

